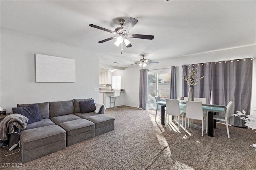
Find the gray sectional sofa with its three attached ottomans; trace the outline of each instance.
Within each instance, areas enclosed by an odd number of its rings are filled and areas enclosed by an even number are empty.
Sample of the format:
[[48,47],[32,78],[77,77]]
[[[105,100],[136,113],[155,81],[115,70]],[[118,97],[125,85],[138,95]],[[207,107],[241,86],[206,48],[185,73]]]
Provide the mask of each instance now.
[[[42,119],[28,124],[20,131],[22,162],[114,130],[114,118],[104,115],[104,106],[99,113],[81,113],[79,102],[86,100],[92,99],[38,103]],[[17,105],[28,106],[29,104]]]

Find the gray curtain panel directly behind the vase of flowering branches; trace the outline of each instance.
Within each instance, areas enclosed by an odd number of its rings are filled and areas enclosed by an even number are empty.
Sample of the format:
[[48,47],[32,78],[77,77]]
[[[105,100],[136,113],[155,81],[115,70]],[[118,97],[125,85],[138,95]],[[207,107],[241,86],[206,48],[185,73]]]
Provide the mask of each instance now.
[[[197,68],[197,76],[201,77],[204,76],[203,79],[199,80],[199,82],[193,86],[194,98],[206,98],[206,104],[210,104],[211,99],[211,81],[212,81],[212,72],[211,72],[211,63],[199,63],[199,64],[190,64],[190,65],[183,65],[183,74],[186,72],[188,75],[188,68]],[[188,96],[188,83],[182,79],[182,96]]]

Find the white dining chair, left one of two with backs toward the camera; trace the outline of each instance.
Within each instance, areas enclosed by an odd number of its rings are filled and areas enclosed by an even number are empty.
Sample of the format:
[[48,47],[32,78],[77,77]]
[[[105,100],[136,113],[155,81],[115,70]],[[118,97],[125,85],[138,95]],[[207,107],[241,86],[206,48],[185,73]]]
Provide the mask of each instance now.
[[[166,99],[166,119],[165,119],[165,126],[168,116],[168,122],[169,122],[169,115],[171,116],[178,116],[178,129],[180,130],[180,115],[183,112],[180,111],[180,105],[179,100],[173,100],[173,99]],[[172,119],[172,117],[171,117]],[[177,121],[176,121],[177,122]]]

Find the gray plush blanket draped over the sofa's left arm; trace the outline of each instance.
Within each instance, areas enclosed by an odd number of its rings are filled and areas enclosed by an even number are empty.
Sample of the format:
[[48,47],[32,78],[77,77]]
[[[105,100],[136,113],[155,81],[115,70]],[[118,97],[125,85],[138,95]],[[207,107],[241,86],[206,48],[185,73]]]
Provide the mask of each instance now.
[[28,118],[20,114],[10,114],[4,117],[0,124],[0,139],[6,141],[7,134],[14,132],[14,127],[25,129],[27,127]]

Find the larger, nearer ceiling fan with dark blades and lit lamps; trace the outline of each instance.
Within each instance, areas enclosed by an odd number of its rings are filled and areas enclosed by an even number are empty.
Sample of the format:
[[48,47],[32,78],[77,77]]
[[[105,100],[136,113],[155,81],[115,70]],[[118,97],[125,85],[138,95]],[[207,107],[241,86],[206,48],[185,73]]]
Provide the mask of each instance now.
[[128,19],[128,21],[125,21],[124,19],[120,19],[118,21],[119,21],[121,26],[117,27],[115,29],[115,31],[111,31],[109,29],[102,28],[102,27],[99,27],[99,26],[94,25],[94,24],[89,25],[90,27],[98,28],[98,29],[101,29],[103,31],[107,31],[107,32],[110,32],[110,33],[113,33],[113,34],[117,35],[116,37],[110,37],[110,38],[104,39],[102,41],[98,41],[98,43],[104,43],[106,41],[116,39],[116,42],[114,43],[116,46],[119,47],[120,44],[122,45],[124,43],[124,45],[126,47],[132,47],[131,42],[126,37],[140,38],[140,39],[154,39],[154,35],[142,35],[142,34],[131,34],[131,33],[129,33],[130,29],[132,29],[132,27],[134,27],[134,25],[138,22],[138,20],[136,20],[135,18],[130,17]]

